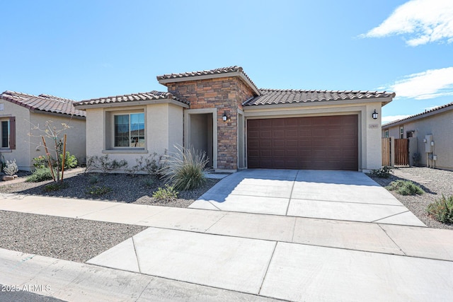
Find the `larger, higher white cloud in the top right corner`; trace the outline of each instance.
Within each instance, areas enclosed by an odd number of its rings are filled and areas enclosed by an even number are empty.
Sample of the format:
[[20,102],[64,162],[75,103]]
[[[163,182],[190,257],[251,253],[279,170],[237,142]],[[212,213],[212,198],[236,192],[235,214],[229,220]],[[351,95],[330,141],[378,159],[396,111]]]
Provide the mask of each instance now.
[[381,25],[360,37],[404,35],[410,46],[453,42],[453,1],[412,0],[398,6]]

